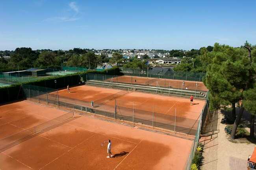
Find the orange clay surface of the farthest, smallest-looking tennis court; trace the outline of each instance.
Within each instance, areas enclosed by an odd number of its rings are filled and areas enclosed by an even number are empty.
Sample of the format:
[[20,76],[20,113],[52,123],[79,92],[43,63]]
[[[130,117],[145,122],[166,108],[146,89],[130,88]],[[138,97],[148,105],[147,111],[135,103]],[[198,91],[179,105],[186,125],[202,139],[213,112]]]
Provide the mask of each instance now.
[[137,77],[137,76],[128,76],[123,75],[119,77],[114,77],[112,80],[107,79],[106,81],[120,82],[120,83],[128,83],[128,84],[141,84],[148,86],[160,86],[160,87],[170,87],[177,89],[188,89],[193,91],[208,91],[203,82],[198,82],[198,86],[196,86],[196,81],[184,81],[183,80],[173,80],[173,79],[157,79],[151,77]]

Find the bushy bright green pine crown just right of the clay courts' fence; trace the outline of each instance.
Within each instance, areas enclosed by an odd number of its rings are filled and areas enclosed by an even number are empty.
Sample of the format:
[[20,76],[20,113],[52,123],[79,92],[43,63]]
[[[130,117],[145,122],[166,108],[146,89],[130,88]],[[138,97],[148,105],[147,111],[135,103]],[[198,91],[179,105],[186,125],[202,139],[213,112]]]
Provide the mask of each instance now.
[[211,108],[238,102],[248,81],[249,60],[243,49],[215,43],[211,53],[204,84],[211,93]]

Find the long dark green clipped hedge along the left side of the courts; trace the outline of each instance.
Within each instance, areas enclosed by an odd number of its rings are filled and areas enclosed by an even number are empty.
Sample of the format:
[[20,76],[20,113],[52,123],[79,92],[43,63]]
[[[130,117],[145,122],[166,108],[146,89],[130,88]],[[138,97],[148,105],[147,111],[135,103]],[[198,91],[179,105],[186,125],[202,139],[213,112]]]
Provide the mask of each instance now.
[[[97,74],[107,74],[107,75],[121,75],[120,69],[118,67],[113,67],[104,71],[94,71],[88,70],[83,72],[78,72],[69,75],[56,76],[56,77],[46,77],[45,79],[35,80],[33,82],[25,82],[14,84],[7,87],[0,88],[0,103],[10,102],[18,99],[22,99],[22,91],[20,91],[21,84],[30,84],[34,86],[42,86],[47,88],[65,88],[67,85],[74,86],[78,85],[81,82],[84,82],[86,79],[87,73],[97,73]],[[56,83],[55,83],[56,80]]]

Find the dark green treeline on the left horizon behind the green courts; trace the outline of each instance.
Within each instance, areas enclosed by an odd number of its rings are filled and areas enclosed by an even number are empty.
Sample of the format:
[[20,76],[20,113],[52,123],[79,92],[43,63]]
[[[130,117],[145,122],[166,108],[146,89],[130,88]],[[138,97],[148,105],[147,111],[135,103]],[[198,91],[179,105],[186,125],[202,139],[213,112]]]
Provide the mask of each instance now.
[[[16,48],[15,51],[0,51],[0,69],[31,68],[47,66],[76,66],[94,69],[99,63],[109,62],[106,54],[95,55],[89,49],[74,48],[69,51],[50,49],[32,50]],[[3,56],[10,56],[6,59]]]

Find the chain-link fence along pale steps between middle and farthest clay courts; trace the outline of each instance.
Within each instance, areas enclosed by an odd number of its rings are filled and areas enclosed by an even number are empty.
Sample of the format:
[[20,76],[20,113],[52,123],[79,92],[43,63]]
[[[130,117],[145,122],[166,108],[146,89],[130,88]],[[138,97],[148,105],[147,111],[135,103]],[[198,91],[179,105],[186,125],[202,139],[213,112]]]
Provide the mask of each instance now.
[[[89,74],[84,75],[86,84],[118,89],[130,89],[141,92],[163,94],[169,96],[190,97],[205,100],[207,90],[202,82],[182,82],[176,80],[152,79],[147,77],[116,76]],[[183,86],[184,84],[184,86]],[[189,88],[185,88],[189,87]],[[180,88],[181,87],[181,88]],[[182,88],[184,87],[184,88]],[[194,89],[195,88],[195,89]],[[192,90],[191,90],[192,89]]]

